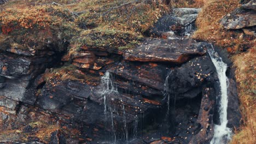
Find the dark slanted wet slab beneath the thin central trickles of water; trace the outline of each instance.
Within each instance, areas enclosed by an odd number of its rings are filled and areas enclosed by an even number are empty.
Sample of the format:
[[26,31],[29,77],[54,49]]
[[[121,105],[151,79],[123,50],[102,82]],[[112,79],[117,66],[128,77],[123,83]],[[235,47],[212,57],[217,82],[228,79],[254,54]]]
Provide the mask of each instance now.
[[[124,117],[128,127],[136,119],[152,115],[150,110],[158,109],[161,105],[159,101],[146,99],[141,95],[107,93],[105,115],[102,90],[100,87],[95,87],[79,81],[51,80],[45,83],[37,104],[42,109],[54,112],[62,119],[66,119],[68,123],[78,121],[89,125],[90,129],[97,128],[97,139],[103,139],[101,133],[105,133],[104,131],[111,132],[112,121],[116,134],[123,136]],[[113,120],[111,115],[113,115]]]

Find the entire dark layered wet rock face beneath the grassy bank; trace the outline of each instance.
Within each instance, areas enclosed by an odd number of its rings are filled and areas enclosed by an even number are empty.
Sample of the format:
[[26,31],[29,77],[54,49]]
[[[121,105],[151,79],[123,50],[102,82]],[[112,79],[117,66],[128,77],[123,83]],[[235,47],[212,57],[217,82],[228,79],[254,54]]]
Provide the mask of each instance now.
[[[181,17],[179,23],[166,27],[184,28],[198,11],[174,9],[171,17]],[[177,37],[146,38],[123,51],[83,46],[69,59],[54,51],[3,51],[0,119],[4,129],[14,120],[24,127],[0,142],[24,141],[23,134],[30,135],[27,142],[45,142],[39,124],[31,124],[40,119],[58,125],[45,143],[209,143],[218,123],[219,85],[208,46]],[[61,59],[73,65],[67,73]],[[230,128],[240,119],[233,79]]]

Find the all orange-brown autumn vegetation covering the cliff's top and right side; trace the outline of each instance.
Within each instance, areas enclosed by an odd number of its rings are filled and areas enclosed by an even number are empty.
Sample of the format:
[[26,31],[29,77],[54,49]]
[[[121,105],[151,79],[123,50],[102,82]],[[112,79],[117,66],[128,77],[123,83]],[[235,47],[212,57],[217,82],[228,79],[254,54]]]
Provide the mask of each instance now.
[[[243,115],[231,143],[256,141],[255,37],[241,30],[228,31],[219,25],[220,19],[239,7],[238,0],[17,0],[0,6],[0,50],[54,49],[67,50],[67,59],[79,53],[81,47],[132,48],[143,33],[159,17],[173,7],[202,8],[196,20],[193,38],[208,41],[227,50],[236,67],[238,94]],[[50,45],[49,45],[50,43]],[[54,75],[80,73],[70,65],[57,69]],[[51,77],[53,75],[48,75]],[[69,75],[68,75],[69,76]],[[72,78],[72,77],[71,77]],[[76,78],[72,78],[76,79]]]

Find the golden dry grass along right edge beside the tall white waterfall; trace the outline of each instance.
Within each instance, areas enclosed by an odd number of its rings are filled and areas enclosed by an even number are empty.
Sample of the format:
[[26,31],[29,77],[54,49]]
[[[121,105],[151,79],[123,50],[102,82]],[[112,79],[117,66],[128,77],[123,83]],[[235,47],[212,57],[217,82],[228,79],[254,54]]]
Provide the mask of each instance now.
[[248,52],[233,57],[236,66],[236,80],[241,101],[243,125],[236,131],[231,143],[256,142],[256,45]]

